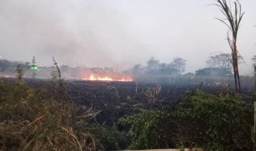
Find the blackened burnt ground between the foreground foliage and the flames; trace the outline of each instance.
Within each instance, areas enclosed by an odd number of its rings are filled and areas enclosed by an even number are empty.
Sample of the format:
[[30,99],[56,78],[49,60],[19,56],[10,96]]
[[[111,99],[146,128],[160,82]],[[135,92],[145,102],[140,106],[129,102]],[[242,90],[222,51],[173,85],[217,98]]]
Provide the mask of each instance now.
[[[194,89],[209,93],[229,93],[227,86],[220,85],[175,85],[136,82],[107,82],[72,80],[68,82],[69,96],[78,106],[78,112],[90,108],[99,111],[94,121],[112,126],[123,115],[138,113],[139,109],[171,110],[178,100]],[[253,92],[243,91],[243,100],[248,103]]]

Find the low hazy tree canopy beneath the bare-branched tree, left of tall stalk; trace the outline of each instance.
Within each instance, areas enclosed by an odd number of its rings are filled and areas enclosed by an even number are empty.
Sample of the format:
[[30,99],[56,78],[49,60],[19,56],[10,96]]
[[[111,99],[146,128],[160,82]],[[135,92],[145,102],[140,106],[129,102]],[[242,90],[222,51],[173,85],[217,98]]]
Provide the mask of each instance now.
[[197,76],[226,76],[230,75],[232,72],[226,68],[201,68],[195,71],[195,75]]

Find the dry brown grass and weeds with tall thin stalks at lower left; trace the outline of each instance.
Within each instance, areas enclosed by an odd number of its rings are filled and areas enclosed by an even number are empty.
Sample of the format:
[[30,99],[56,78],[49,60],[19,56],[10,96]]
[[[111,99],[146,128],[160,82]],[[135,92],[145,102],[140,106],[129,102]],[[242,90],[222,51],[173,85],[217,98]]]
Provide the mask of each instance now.
[[124,149],[126,135],[89,123],[96,115],[91,109],[75,112],[54,58],[53,63],[52,79],[41,88],[25,83],[20,66],[17,80],[0,79],[0,150]]

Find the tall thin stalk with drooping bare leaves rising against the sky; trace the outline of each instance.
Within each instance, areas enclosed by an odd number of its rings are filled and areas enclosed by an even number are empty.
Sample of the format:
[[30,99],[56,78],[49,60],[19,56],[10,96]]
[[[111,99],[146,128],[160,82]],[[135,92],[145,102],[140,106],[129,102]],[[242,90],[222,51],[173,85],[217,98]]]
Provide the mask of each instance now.
[[[232,51],[232,65],[233,65],[233,72],[236,84],[236,92],[241,94],[241,86],[240,86],[240,79],[239,79],[239,71],[238,71],[238,51],[237,51],[237,33],[239,29],[240,22],[244,13],[241,13],[241,4],[238,0],[234,2],[235,5],[235,13],[231,11],[231,6],[228,7],[226,0],[217,0],[217,4],[215,4],[221,11],[222,14],[225,15],[226,20],[224,19],[217,19],[223,22],[227,27],[230,29],[232,33],[232,38],[227,36],[228,44],[230,45]],[[238,85],[238,88],[237,88]]]

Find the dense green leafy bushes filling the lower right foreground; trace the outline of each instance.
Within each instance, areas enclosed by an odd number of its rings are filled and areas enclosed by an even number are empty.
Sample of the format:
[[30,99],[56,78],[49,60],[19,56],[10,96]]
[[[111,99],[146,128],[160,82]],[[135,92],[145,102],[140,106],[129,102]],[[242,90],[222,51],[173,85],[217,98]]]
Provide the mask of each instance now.
[[203,147],[253,150],[253,109],[231,96],[194,90],[174,111],[142,111],[119,123],[131,126],[128,149]]

